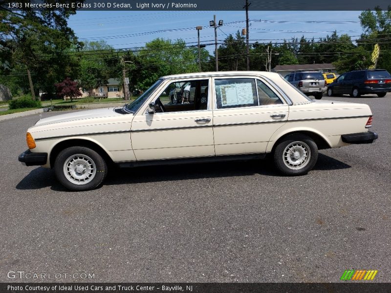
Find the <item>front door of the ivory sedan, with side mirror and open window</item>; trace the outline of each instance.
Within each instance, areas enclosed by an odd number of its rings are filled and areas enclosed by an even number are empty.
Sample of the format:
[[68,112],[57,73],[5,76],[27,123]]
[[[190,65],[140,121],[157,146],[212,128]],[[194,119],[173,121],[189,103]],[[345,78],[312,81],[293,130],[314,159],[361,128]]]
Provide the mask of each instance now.
[[[190,82],[190,97],[174,104],[173,84]],[[170,80],[133,118],[131,143],[136,160],[158,160],[214,156],[213,112],[210,107],[209,78]],[[201,91],[207,93],[201,102]],[[205,98],[203,98],[205,100]],[[183,101],[184,100],[184,101]],[[154,103],[156,112],[148,112]]]

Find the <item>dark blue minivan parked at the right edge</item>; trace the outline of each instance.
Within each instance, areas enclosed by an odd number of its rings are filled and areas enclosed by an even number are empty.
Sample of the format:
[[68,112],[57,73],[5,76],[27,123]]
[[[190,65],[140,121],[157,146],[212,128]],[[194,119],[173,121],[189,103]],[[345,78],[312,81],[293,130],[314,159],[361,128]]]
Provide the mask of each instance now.
[[327,87],[327,96],[349,94],[360,97],[365,94],[377,94],[384,97],[391,92],[391,75],[384,69],[367,69],[346,72]]

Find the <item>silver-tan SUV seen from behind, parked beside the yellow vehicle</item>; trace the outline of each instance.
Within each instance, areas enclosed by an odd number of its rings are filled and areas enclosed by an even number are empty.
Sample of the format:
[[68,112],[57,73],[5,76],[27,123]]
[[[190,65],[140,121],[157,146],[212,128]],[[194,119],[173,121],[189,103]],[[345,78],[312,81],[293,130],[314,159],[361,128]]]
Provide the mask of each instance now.
[[319,71],[294,71],[284,77],[307,96],[320,100],[326,91],[325,77]]

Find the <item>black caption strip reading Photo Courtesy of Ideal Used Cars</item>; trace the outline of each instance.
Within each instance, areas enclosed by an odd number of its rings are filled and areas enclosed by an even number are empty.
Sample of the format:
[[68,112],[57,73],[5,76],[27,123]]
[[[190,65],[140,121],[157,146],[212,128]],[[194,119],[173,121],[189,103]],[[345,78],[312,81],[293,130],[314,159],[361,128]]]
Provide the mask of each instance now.
[[390,283],[0,283],[1,293],[390,293]]

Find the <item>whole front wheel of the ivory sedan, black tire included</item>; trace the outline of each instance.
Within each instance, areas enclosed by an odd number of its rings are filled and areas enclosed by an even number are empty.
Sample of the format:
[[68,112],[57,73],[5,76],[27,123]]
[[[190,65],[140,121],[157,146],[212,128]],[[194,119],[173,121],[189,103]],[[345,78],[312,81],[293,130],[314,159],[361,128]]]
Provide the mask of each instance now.
[[93,149],[71,146],[58,154],[54,171],[65,188],[84,191],[100,186],[106,178],[108,167],[102,156]]

